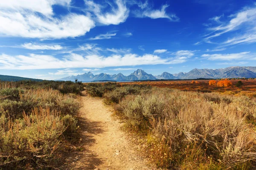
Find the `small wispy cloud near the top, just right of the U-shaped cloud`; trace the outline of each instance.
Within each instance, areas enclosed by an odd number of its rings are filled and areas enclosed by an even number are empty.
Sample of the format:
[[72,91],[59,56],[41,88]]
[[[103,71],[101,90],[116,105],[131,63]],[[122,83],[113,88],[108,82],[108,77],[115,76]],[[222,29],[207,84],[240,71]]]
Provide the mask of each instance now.
[[135,16],[141,18],[149,17],[151,19],[167,18],[171,21],[178,21],[179,18],[175,14],[166,14],[167,7],[169,7],[169,5],[163,5],[161,9],[146,8],[144,11],[136,11]]

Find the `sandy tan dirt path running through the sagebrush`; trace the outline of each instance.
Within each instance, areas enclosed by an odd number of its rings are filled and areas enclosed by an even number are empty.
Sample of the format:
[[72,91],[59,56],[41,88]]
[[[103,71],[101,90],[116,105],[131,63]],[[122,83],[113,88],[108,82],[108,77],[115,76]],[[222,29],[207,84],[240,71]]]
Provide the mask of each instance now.
[[[81,147],[83,154],[73,162],[72,169],[79,170],[155,170],[136,147],[129,142],[128,136],[120,130],[121,123],[113,119],[111,107],[104,105],[102,99],[90,97],[83,92]],[[74,153],[76,154],[76,153]]]

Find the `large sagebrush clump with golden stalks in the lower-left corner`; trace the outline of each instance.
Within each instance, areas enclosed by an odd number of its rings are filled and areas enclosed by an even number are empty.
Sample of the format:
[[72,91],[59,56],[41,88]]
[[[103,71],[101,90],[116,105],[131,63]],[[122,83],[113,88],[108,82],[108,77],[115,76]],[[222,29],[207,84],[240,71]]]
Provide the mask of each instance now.
[[9,168],[12,167],[10,163],[20,161],[25,164],[31,161],[44,164],[49,161],[64,131],[59,114],[49,109],[35,109],[31,115],[23,113],[23,119],[14,122],[8,121],[2,114],[0,121],[0,163]]

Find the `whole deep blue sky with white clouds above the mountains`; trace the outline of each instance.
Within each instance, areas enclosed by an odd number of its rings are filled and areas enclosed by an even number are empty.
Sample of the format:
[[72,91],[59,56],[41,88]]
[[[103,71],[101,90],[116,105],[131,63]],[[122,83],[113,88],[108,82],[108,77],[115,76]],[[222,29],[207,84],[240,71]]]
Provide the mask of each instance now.
[[253,0],[8,0],[0,23],[4,75],[256,66]]

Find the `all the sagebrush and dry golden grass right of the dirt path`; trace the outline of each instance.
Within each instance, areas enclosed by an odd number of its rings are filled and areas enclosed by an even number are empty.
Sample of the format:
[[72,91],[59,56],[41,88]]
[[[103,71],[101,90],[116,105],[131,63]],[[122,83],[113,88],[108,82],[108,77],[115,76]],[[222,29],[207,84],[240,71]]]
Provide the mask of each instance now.
[[[91,86],[96,85],[87,84],[86,88],[94,94],[97,90]],[[157,166],[179,170],[255,168],[254,97],[97,84],[100,89],[107,86],[111,90],[101,90],[105,103],[113,105],[128,129],[140,134],[142,150]]]

